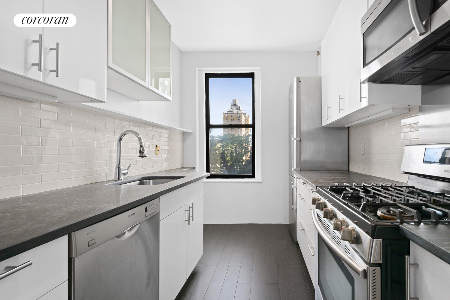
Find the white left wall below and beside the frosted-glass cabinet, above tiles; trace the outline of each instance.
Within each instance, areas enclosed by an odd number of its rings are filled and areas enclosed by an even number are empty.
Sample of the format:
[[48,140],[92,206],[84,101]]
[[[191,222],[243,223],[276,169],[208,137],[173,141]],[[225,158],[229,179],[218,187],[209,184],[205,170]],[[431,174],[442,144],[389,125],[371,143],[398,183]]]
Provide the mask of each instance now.
[[106,103],[86,103],[110,110],[123,111],[126,114],[144,117],[152,122],[182,128],[182,52],[172,42],[172,101],[136,101],[130,97],[108,89]]

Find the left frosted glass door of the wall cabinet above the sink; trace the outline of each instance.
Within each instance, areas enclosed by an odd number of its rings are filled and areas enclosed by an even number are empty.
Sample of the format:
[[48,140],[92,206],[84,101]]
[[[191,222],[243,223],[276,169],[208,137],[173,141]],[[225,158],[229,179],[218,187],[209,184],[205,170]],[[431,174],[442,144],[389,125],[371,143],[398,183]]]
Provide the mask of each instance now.
[[147,0],[109,0],[108,65],[148,86]]

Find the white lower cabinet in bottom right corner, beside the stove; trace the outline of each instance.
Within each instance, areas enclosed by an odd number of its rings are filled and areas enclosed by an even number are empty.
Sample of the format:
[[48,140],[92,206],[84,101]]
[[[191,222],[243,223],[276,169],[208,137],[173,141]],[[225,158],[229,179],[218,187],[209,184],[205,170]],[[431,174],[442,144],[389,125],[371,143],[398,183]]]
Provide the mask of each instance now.
[[419,265],[418,268],[411,268],[410,286],[412,298],[415,297],[421,300],[449,299],[449,264],[414,242],[410,242],[410,263]]

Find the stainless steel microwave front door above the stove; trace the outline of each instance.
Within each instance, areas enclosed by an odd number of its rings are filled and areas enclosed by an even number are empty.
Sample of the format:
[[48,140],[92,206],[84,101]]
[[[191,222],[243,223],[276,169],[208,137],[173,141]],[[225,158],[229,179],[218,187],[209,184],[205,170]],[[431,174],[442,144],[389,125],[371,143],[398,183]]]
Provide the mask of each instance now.
[[[414,9],[415,3],[419,16]],[[428,29],[419,35],[412,18],[416,16],[416,20],[425,21],[431,12],[431,0],[375,1],[361,20],[361,79],[368,80],[370,75],[397,57],[401,57],[402,53],[428,36],[429,24]]]

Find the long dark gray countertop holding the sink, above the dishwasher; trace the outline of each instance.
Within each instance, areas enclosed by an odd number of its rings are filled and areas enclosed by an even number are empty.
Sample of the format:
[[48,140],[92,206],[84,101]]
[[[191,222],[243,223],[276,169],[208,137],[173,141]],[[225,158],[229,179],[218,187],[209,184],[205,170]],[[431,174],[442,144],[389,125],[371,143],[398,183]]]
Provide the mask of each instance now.
[[178,168],[126,177],[184,176],[162,185],[86,185],[0,199],[0,261],[126,212],[209,173]]

